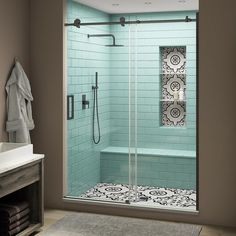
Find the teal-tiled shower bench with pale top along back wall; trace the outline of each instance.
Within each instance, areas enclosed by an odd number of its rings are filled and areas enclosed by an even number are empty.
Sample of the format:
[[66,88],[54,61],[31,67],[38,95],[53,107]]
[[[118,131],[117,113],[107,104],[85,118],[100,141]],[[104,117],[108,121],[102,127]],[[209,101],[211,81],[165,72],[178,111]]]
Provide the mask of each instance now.
[[[128,151],[110,146],[100,152],[102,182],[127,184]],[[196,189],[196,151],[138,148],[137,154],[138,185]]]

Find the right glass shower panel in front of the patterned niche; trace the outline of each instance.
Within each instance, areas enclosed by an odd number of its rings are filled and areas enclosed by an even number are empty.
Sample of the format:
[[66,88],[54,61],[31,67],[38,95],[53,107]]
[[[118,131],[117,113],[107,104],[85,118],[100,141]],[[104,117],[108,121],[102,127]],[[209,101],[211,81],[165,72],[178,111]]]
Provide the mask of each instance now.
[[137,54],[139,204],[196,210],[196,23],[140,24]]

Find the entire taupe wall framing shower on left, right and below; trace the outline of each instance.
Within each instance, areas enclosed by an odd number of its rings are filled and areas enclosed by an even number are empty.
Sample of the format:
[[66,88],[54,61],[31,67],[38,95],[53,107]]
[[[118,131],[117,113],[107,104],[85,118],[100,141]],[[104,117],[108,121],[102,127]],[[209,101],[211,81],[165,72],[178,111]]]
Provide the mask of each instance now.
[[200,213],[170,214],[62,201],[63,0],[31,0],[33,142],[46,154],[47,207],[236,226],[235,0],[200,0]]

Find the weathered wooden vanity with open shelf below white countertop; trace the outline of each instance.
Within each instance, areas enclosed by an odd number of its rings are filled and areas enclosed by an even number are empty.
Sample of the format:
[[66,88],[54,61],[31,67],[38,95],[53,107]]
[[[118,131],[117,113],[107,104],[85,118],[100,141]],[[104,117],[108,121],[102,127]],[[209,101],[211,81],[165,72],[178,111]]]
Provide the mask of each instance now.
[[17,236],[29,236],[43,226],[43,158],[0,174],[1,200],[18,199],[29,202],[30,225]]

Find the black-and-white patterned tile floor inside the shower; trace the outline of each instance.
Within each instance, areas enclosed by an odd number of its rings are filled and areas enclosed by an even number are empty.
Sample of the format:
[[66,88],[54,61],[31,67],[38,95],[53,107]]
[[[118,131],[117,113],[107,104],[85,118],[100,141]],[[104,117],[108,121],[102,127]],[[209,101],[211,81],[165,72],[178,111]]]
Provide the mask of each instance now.
[[122,203],[130,199],[132,205],[196,210],[195,190],[137,186],[137,191],[138,200],[136,201],[135,191],[131,190],[129,193],[129,185],[99,183],[79,197]]

